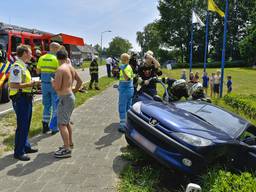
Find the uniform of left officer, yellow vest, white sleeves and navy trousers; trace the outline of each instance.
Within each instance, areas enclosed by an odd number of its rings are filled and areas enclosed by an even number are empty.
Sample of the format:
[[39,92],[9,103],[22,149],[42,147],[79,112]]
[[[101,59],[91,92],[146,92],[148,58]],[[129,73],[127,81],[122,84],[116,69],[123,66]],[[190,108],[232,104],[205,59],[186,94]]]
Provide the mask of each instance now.
[[[30,83],[31,75],[26,64],[18,59],[11,68],[10,83]],[[28,132],[32,117],[32,88],[14,89],[10,88],[13,109],[17,117],[17,129],[15,132],[14,157],[20,158],[31,150],[28,141]]]

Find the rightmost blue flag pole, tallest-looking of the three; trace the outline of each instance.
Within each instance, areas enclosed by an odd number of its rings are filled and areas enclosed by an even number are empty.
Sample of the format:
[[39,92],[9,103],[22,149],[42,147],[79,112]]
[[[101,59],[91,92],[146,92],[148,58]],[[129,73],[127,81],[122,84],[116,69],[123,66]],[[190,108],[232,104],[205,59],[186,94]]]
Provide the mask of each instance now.
[[224,18],[224,36],[223,36],[223,49],[222,49],[222,59],[221,59],[220,98],[222,97],[222,93],[223,93],[225,51],[226,51],[226,39],[227,39],[227,21],[228,21],[228,0],[226,0],[226,10],[225,10],[225,18]]

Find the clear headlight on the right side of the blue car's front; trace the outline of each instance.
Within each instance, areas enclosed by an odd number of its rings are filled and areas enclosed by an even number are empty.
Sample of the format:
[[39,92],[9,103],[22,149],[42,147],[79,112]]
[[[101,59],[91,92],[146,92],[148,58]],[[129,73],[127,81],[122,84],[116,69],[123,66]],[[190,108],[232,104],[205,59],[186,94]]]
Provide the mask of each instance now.
[[195,135],[189,135],[186,133],[173,133],[173,135],[175,137],[178,137],[182,141],[196,147],[205,147],[212,144],[212,141],[208,139],[204,139],[202,137],[195,136]]

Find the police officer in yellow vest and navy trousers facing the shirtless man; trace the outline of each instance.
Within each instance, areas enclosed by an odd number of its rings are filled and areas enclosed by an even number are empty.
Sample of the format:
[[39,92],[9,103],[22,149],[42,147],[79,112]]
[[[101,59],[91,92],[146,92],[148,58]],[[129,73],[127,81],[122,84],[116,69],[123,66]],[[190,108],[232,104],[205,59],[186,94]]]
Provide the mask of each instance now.
[[35,153],[28,141],[28,132],[32,117],[32,87],[38,82],[31,81],[31,75],[26,67],[32,57],[32,52],[26,45],[17,47],[17,61],[12,65],[9,78],[10,97],[17,117],[15,132],[14,158],[29,161],[25,153]]

